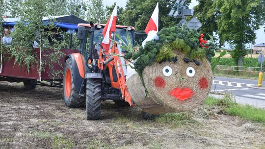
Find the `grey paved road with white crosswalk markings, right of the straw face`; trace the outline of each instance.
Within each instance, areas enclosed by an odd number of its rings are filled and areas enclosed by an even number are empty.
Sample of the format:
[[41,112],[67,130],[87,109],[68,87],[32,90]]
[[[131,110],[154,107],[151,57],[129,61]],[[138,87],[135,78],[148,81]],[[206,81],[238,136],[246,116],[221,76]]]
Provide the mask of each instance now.
[[234,95],[240,103],[265,107],[265,81],[263,87],[255,87],[257,84],[257,80],[214,77],[211,90]]

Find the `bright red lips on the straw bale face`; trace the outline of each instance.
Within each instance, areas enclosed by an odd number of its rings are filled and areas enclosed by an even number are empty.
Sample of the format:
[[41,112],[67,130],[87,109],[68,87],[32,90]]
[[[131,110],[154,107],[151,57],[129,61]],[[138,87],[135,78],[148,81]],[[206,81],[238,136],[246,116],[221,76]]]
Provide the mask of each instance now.
[[176,99],[179,100],[186,100],[192,97],[192,95],[194,94],[194,92],[189,89],[189,88],[174,88],[173,90],[171,90],[168,94],[170,94],[171,96],[173,96]]

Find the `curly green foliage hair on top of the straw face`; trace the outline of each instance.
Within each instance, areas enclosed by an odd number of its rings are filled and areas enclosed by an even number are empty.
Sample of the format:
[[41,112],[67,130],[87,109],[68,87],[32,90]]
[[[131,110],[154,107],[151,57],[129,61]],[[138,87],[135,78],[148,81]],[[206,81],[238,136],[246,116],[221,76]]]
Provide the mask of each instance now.
[[134,68],[139,75],[146,66],[152,65],[155,61],[171,59],[174,55],[172,50],[183,51],[189,59],[205,57],[204,48],[199,47],[200,34],[189,29],[186,25],[182,27],[163,28],[158,32],[159,40],[146,42],[145,47],[140,47],[137,53],[127,53],[126,58],[136,60]]

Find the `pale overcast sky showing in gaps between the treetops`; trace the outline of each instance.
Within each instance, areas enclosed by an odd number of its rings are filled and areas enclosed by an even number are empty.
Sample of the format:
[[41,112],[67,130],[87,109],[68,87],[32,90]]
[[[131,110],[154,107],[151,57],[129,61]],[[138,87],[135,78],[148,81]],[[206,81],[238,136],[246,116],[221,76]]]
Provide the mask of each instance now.
[[[103,0],[104,5],[112,5],[114,2],[117,2],[118,6],[125,7],[127,0]],[[189,8],[193,8],[195,5],[197,5],[198,2],[196,0],[191,0],[191,3],[189,5]],[[155,9],[155,6],[154,6]],[[257,39],[255,40],[256,44],[265,43],[265,32],[264,27],[262,26],[259,30],[256,31]]]

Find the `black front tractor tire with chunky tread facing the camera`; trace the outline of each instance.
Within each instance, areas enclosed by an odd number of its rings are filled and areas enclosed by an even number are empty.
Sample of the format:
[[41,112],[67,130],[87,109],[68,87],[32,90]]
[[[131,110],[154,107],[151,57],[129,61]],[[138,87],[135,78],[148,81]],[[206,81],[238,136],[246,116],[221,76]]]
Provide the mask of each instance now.
[[101,79],[86,79],[86,119],[101,119]]

